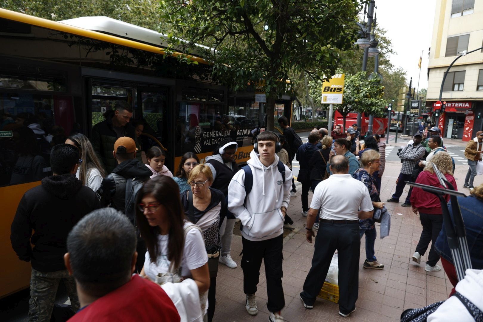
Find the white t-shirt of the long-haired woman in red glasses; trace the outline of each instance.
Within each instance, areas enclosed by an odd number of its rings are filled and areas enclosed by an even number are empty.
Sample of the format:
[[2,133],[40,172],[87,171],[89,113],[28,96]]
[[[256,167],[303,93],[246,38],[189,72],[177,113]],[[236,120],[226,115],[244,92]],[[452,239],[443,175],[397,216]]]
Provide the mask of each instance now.
[[[185,222],[185,226],[190,223]],[[168,273],[170,271],[170,261],[168,260],[168,238],[169,235],[158,235],[157,241],[159,245],[159,255],[156,263],[151,262],[149,252],[146,252],[144,259],[144,273],[151,279],[156,280],[158,273]],[[206,254],[205,242],[203,235],[198,229],[191,229],[186,234],[185,247],[183,249],[183,258],[181,266],[183,276],[191,276],[190,270],[199,268],[208,262]]]

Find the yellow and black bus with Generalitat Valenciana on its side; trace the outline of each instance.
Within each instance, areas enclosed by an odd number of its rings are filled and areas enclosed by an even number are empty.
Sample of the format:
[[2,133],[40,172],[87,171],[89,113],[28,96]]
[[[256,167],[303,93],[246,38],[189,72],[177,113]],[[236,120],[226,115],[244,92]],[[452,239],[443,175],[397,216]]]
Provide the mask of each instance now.
[[[237,162],[245,162],[252,131],[263,126],[252,88],[235,94],[215,84],[196,52],[198,65],[163,58],[153,30],[107,17],[54,22],[0,9],[0,40],[0,297],[28,287],[30,265],[13,252],[10,225],[25,191],[50,174],[52,144],[73,132],[90,138],[102,114],[122,101],[143,134],[167,150],[174,172],[185,152],[203,159],[225,137],[238,142]],[[291,119],[290,97],[276,103],[278,115]]]

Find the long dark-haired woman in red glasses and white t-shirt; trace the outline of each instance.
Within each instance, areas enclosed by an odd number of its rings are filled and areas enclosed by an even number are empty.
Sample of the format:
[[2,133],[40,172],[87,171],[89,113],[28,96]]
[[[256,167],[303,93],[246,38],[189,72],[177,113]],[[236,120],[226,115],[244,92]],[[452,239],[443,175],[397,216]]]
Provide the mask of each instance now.
[[[193,279],[200,295],[208,291],[210,273],[203,235],[185,219],[176,183],[157,176],[144,183],[137,198],[136,221],[147,248],[140,275],[156,281],[158,274],[172,273]],[[206,302],[201,306],[206,308]]]

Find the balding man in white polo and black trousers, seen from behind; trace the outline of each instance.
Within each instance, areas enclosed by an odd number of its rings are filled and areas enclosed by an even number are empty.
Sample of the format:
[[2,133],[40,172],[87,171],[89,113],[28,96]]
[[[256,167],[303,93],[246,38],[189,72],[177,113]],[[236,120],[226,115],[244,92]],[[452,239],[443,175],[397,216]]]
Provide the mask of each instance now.
[[307,241],[312,243],[315,216],[320,208],[320,226],[315,238],[312,268],[307,274],[300,299],[305,308],[313,303],[324,285],[332,255],[339,254],[339,314],[355,311],[359,288],[359,219],[371,218],[374,208],[364,183],[349,174],[349,161],[335,155],[330,161],[332,175],[313,192],[307,216]]

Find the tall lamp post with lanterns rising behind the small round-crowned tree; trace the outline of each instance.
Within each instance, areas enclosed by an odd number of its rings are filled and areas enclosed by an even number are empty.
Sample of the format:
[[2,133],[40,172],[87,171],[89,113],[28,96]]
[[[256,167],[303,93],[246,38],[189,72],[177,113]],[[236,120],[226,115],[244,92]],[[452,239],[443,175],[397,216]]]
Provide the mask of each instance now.
[[[368,57],[377,57],[379,55],[379,50],[377,49],[377,40],[375,39],[375,28],[376,28],[376,17],[374,14],[374,9],[375,9],[375,1],[370,0],[369,1],[369,8],[367,11],[367,23],[365,24],[360,24],[356,22],[357,26],[361,28],[359,31],[359,39],[357,39],[357,42],[355,44],[359,45],[361,49],[364,49],[364,56],[362,58],[362,70],[366,71],[367,70],[367,60]],[[366,14],[366,10],[364,9],[364,14]],[[374,19],[372,16],[374,15]],[[374,26],[372,26],[374,25]],[[371,35],[371,28],[373,27],[372,31],[373,34]],[[377,73],[377,70],[375,68],[375,72]],[[369,134],[372,134],[372,124],[373,124],[373,117],[372,115],[369,116],[369,127],[368,127],[368,132]],[[362,113],[358,112],[357,113],[357,127],[361,128],[362,125]]]

